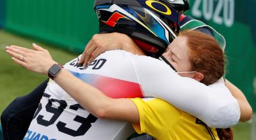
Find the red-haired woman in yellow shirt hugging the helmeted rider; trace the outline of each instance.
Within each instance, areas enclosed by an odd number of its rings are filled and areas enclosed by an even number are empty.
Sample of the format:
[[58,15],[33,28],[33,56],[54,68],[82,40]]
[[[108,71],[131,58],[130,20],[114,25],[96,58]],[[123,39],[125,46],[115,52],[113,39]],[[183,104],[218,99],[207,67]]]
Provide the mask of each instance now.
[[[38,46],[37,49],[42,48]],[[13,57],[17,56],[15,53],[20,53],[11,48],[7,50]],[[37,57],[40,57],[38,60],[44,60],[45,63],[38,65],[36,60],[26,60],[26,63],[37,63],[36,67],[31,65],[26,68],[37,73],[47,74],[49,69],[47,62],[52,61],[51,56],[49,53],[38,54]],[[193,78],[205,85],[210,85],[218,81],[224,74],[225,61],[220,46],[214,38],[198,31],[182,33],[172,42],[163,56],[180,76],[185,77],[184,79]],[[145,59],[148,58],[145,57]],[[19,60],[14,60],[20,64]],[[24,66],[24,64],[22,65]],[[166,67],[165,65],[157,63],[154,67]],[[170,70],[168,69],[168,71]],[[179,76],[178,74],[173,76]],[[232,139],[231,131],[218,130],[217,134],[216,129],[210,129],[195,116],[189,115],[161,99],[111,99],[97,88],[72,78],[72,74],[67,70],[60,71],[54,81],[76,99],[83,108],[98,118],[131,122],[138,133],[147,133],[156,139],[218,139],[218,134],[220,139]],[[232,85],[230,86],[234,88]],[[183,103],[186,104],[186,102]]]

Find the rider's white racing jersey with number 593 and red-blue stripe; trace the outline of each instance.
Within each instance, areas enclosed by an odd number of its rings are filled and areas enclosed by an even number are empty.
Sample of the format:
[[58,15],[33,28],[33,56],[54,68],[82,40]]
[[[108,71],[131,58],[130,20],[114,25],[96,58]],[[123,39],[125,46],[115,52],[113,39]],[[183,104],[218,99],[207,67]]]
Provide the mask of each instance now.
[[[237,101],[221,80],[207,87],[179,76],[161,60],[123,50],[102,53],[88,67],[79,66],[78,60],[64,68],[109,97],[159,97],[211,127],[230,127],[239,121]],[[133,132],[129,123],[96,118],[51,80],[24,140],[126,139]]]

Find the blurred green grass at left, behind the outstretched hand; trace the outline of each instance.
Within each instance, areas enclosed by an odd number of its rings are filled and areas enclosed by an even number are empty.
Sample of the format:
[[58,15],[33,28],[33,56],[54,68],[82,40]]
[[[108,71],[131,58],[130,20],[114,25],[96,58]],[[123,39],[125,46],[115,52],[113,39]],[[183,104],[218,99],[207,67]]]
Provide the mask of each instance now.
[[52,58],[61,64],[73,59],[77,55],[66,52],[54,46],[33,42],[22,36],[15,36],[0,30],[0,113],[15,97],[29,93],[47,77],[27,71],[23,67],[12,62],[5,52],[5,46],[19,45],[31,48],[36,43],[51,52]]

